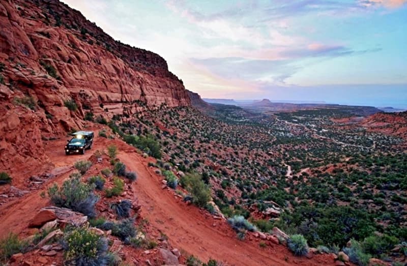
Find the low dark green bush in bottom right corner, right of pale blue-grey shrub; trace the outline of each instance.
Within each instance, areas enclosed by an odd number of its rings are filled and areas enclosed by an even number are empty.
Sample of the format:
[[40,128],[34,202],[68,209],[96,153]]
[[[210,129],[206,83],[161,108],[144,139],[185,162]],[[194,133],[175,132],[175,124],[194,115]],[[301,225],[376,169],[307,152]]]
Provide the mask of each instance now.
[[389,252],[399,241],[396,237],[383,234],[381,236],[371,235],[364,239],[362,243],[363,251],[373,256]]

